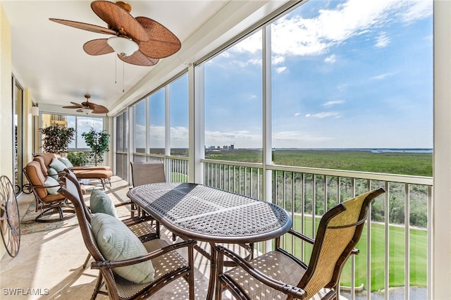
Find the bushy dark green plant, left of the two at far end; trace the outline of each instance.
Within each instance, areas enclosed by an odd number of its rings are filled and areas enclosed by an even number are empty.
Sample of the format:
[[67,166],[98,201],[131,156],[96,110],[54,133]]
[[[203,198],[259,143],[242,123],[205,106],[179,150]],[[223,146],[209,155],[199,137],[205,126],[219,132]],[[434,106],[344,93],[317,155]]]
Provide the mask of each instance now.
[[42,149],[47,153],[65,154],[68,146],[75,137],[75,128],[52,124],[39,129],[42,137]]

